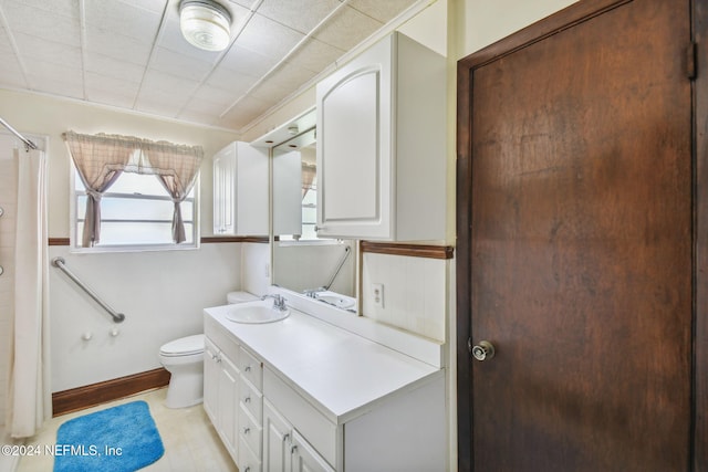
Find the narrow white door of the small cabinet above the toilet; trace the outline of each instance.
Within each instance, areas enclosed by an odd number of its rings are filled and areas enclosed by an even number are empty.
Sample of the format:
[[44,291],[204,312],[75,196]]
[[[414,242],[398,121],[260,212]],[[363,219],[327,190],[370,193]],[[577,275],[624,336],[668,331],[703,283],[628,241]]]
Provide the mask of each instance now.
[[214,156],[214,233],[236,232],[236,146]]

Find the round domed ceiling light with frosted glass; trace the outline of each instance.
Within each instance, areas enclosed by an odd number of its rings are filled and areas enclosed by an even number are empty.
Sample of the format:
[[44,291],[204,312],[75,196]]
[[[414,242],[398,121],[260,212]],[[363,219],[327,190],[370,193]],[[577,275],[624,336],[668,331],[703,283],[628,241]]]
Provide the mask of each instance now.
[[205,51],[223,51],[229,45],[231,15],[211,0],[183,0],[179,29],[194,46]]

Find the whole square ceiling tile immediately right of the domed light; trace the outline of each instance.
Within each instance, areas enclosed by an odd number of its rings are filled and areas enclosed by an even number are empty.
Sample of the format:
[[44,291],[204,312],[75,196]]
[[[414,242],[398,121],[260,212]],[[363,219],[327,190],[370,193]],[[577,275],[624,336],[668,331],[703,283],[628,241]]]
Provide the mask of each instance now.
[[268,57],[281,59],[303,38],[304,34],[295,30],[283,27],[260,14],[254,14],[241,35],[236,40],[235,46],[258,51]]

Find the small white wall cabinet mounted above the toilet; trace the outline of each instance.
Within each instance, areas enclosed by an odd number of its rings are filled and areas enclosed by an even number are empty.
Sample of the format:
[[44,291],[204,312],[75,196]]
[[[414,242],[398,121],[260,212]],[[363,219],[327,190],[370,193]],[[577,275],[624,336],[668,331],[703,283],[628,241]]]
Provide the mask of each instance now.
[[268,151],[233,141],[214,158],[214,234],[268,234]]

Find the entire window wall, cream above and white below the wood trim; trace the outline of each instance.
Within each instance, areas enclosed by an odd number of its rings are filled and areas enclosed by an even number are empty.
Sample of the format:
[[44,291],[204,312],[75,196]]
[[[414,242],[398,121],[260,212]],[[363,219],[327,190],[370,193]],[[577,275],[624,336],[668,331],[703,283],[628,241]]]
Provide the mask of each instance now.
[[[202,146],[201,234],[211,235],[210,157],[237,139],[236,134],[2,90],[0,116],[24,134],[49,137],[50,238],[69,238],[71,167],[61,138],[69,129]],[[260,245],[268,251],[268,244]],[[226,303],[227,292],[242,289],[240,243],[207,243],[190,251],[80,255],[71,254],[67,247],[50,247],[50,258],[58,255],[106,303],[124,313],[126,321],[114,324],[63,273],[50,268],[52,391],[159,367],[162,344],[200,333],[201,310]],[[114,327],[119,331],[117,336],[111,335]],[[85,333],[92,335],[87,342],[82,339]]]

